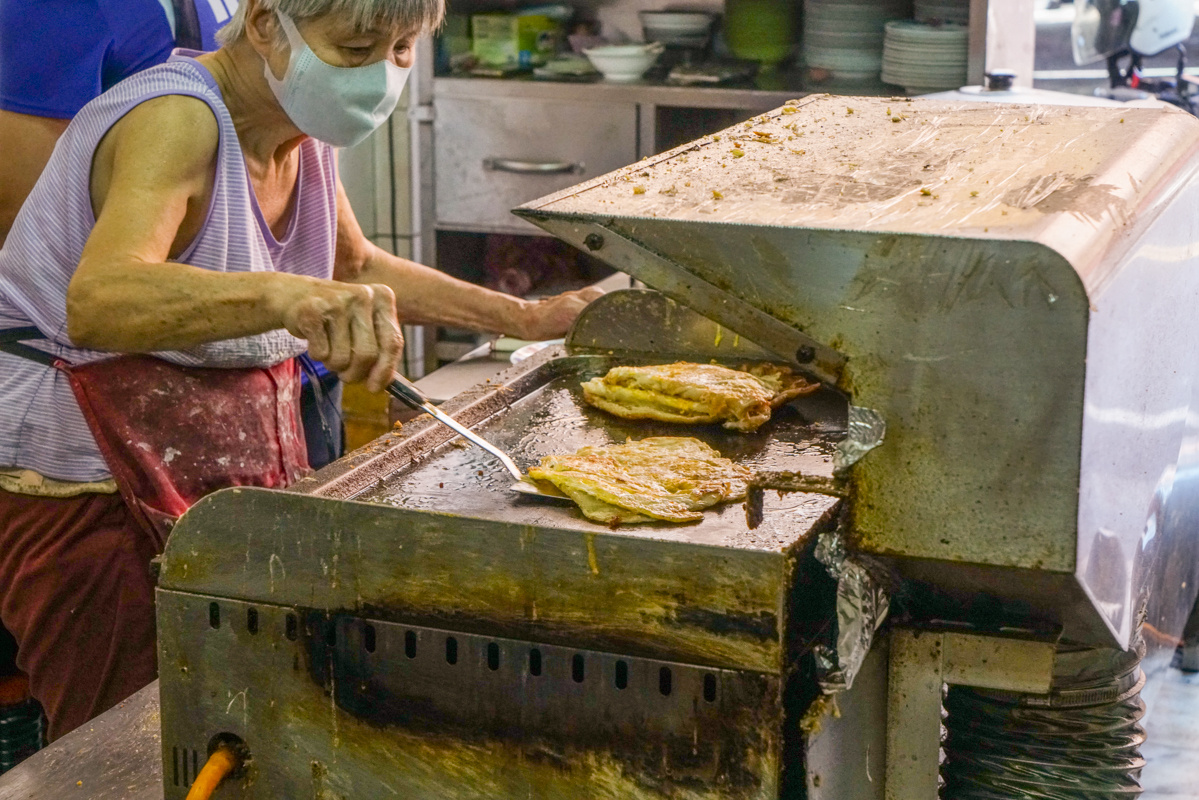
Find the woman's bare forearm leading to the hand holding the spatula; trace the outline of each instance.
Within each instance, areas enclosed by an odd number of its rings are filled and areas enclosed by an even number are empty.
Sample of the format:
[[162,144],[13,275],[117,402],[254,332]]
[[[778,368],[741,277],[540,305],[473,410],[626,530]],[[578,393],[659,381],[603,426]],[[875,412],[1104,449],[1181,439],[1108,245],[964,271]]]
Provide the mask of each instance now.
[[283,327],[312,278],[212,272],[186,264],[83,264],[67,288],[67,333],[116,353],[179,350]]

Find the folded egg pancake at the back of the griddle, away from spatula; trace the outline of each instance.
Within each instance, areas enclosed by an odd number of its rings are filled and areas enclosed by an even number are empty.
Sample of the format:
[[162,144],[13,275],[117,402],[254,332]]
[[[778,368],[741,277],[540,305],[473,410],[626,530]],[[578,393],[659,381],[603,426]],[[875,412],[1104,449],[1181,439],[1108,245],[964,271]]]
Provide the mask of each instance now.
[[703,425],[722,422],[733,431],[757,431],[773,409],[817,391],[787,367],[772,363],[730,369],[713,363],[613,367],[583,384],[588,403],[626,420]]

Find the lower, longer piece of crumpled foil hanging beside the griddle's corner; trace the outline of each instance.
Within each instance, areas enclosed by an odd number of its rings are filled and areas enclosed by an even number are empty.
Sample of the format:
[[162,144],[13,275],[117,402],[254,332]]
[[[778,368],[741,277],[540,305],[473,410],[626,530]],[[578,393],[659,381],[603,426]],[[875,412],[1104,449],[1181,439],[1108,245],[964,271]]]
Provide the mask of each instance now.
[[866,557],[846,553],[839,531],[820,535],[815,557],[837,581],[836,648],[818,644],[813,650],[820,691],[833,694],[854,685],[874,643],[874,632],[891,608],[891,597],[882,567]]

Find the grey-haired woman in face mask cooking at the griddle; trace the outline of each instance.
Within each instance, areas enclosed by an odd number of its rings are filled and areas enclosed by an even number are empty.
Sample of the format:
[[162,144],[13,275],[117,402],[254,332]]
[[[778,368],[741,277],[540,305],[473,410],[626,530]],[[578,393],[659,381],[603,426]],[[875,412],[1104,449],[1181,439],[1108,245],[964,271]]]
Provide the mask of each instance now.
[[18,215],[0,251],[0,620],[52,736],[153,679],[149,564],[173,519],[303,473],[294,356],[379,390],[398,320],[547,338],[592,297],[526,302],[363,237],[333,146],[387,118],[441,16],[242,0],[216,53],[89,103]]

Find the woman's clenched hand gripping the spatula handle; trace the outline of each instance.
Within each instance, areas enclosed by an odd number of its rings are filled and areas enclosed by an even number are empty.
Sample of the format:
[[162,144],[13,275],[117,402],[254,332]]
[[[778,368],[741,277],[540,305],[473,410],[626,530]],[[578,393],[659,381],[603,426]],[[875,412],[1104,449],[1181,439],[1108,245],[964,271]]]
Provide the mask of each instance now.
[[308,353],[342,380],[364,380],[373,392],[393,378],[404,349],[396,321],[396,295],[385,285],[306,282],[281,297],[281,319],[288,331],[308,341]]

